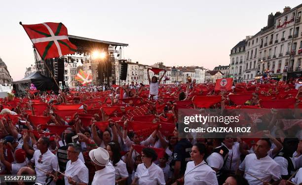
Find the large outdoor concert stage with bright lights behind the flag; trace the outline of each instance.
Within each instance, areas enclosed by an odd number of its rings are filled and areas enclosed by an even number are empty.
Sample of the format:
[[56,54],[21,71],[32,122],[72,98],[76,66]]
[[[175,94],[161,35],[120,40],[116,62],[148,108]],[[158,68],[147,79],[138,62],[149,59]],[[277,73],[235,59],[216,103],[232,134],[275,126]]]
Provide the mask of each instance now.
[[[83,71],[86,71],[88,74],[92,74],[92,82],[95,85],[115,83],[115,81],[118,80],[118,77],[115,76],[114,69],[115,57],[121,60],[122,48],[124,46],[128,46],[128,44],[71,35],[68,37],[69,40],[76,45],[76,53],[59,58],[47,59],[45,61],[50,73],[53,74],[58,83],[62,82],[62,85],[68,85],[65,84],[64,62],[81,62],[83,65]],[[35,49],[34,55],[37,71],[40,74],[51,77],[51,74],[44,63],[41,62],[41,59]]]

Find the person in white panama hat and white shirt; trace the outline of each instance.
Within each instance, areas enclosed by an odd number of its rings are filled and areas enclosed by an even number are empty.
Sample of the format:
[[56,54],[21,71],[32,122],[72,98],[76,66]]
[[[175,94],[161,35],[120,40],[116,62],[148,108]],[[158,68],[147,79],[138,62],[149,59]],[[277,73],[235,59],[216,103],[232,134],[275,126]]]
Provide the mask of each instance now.
[[115,185],[115,169],[109,162],[109,153],[104,148],[89,151],[89,157],[96,172],[91,185]]

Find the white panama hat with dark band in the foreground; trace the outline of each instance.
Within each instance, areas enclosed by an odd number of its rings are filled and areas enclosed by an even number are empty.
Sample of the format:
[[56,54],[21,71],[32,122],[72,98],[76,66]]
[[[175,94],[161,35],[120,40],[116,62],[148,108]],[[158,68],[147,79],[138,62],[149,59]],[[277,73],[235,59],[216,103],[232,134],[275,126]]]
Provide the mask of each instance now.
[[107,166],[109,163],[109,153],[101,147],[90,150],[89,157],[98,166]]

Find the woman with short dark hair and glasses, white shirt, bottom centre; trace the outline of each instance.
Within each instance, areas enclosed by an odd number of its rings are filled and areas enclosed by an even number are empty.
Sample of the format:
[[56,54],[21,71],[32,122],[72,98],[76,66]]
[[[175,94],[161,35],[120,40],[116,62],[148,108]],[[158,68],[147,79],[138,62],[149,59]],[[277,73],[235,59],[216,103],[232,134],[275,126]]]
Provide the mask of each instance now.
[[153,163],[157,154],[152,148],[143,148],[142,164],[137,166],[136,173],[131,185],[165,185],[162,169]]

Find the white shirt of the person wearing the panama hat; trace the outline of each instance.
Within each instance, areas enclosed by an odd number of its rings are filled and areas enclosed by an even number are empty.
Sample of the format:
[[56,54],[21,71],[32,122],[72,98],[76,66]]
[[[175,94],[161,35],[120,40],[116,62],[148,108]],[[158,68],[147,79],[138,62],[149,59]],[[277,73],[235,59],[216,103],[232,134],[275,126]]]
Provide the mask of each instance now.
[[104,169],[95,172],[91,185],[115,185],[115,169],[109,163]]

